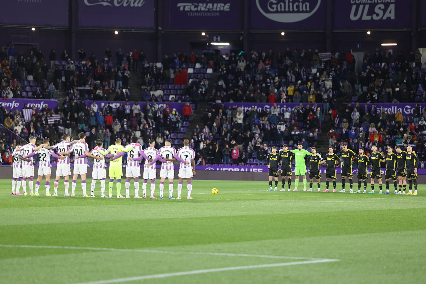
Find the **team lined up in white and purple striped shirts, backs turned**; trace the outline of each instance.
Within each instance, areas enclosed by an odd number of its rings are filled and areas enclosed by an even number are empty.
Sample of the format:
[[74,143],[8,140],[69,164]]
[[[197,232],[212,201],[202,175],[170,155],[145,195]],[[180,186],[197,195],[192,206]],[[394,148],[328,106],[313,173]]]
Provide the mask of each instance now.
[[[169,180],[169,199],[175,199],[173,197],[173,178],[174,178],[174,166],[173,161],[179,161],[180,167],[178,172],[179,183],[178,183],[178,196],[176,199],[181,199],[181,190],[184,179],[187,179],[187,199],[193,199],[191,197],[192,192],[192,178],[195,175],[195,151],[189,147],[189,141],[184,140],[184,146],[176,152],[173,148],[172,141],[167,139],[164,142],[164,147],[160,150],[154,148],[155,140],[150,139],[148,141],[149,147],[142,149],[142,146],[137,143],[138,138],[133,136],[129,145],[124,147],[121,145],[121,139],[118,138],[114,145],[109,146],[108,149],[102,148],[103,141],[98,139],[96,141],[96,147],[89,151],[87,146],[86,134],[84,132],[79,134],[79,139],[70,142],[68,134],[62,136],[60,143],[54,146],[49,146],[49,138],[44,138],[43,143],[39,146],[35,146],[35,137],[29,138],[29,143],[25,140],[20,141],[20,146],[17,146],[13,152],[13,179],[12,179],[12,195],[35,195],[38,196],[38,189],[40,187],[40,181],[45,176],[46,178],[46,196],[52,196],[50,194],[50,155],[58,158],[58,166],[56,169],[56,178],[54,183],[54,196],[58,196],[58,185],[61,177],[64,178],[65,192],[64,196],[75,196],[75,188],[77,185],[78,175],[81,176],[81,188],[83,190],[83,197],[89,197],[86,193],[86,175],[87,175],[87,158],[93,158],[93,171],[92,171],[92,184],[90,186],[91,195],[95,197],[95,186],[98,180],[101,183],[101,197],[112,198],[112,189],[114,180],[116,180],[117,198],[124,198],[121,195],[121,176],[123,175],[122,168],[122,156],[127,152],[127,167],[126,167],[126,198],[130,198],[130,181],[133,178],[135,187],[135,198],[147,198],[147,182],[150,180],[150,198],[156,199],[154,196],[155,192],[155,179],[156,170],[155,163],[160,161],[160,199],[164,198],[164,180]],[[56,150],[58,153],[55,153]],[[38,167],[37,182],[35,185],[35,192],[33,191],[33,179],[34,179],[34,163],[33,156],[39,155],[40,164]],[[74,155],[74,170],[71,184],[71,194],[69,194],[69,176],[71,175],[71,166],[69,155]],[[105,194],[105,158],[109,158],[109,195]],[[139,196],[139,177],[141,176],[141,167],[138,161],[145,159],[144,162],[144,182],[142,184],[143,196]],[[26,190],[26,180],[28,179],[29,193]],[[23,194],[19,192],[22,184]]]

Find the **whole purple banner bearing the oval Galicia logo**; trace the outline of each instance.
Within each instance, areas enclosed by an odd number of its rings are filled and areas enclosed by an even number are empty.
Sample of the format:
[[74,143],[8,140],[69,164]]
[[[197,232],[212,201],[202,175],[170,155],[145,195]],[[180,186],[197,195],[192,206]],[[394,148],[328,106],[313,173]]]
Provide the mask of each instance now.
[[250,0],[250,29],[325,29],[326,2]]

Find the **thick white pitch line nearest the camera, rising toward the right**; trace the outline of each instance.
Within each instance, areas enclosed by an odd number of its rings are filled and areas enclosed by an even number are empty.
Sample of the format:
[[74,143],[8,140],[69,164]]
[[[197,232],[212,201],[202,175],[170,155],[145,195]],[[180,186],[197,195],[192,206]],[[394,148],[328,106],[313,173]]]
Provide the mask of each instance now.
[[201,274],[201,273],[212,273],[212,272],[233,271],[233,270],[243,270],[243,269],[255,269],[255,268],[267,268],[267,267],[282,267],[282,266],[290,266],[290,265],[298,265],[298,264],[312,264],[312,263],[323,263],[323,262],[332,262],[332,261],[339,261],[339,259],[318,259],[318,260],[294,261],[294,262],[283,262],[283,263],[274,263],[274,264],[259,264],[259,265],[247,265],[247,266],[222,267],[222,268],[192,270],[192,271],[183,271],[183,272],[174,272],[174,273],[134,276],[134,277],[127,277],[127,278],[116,278],[116,279],[110,279],[110,280],[81,282],[81,283],[76,283],[76,284],[121,283],[121,282],[137,281],[137,280],[144,280],[144,279],[166,278],[166,277],[172,277],[172,276],[194,275],[194,274]]

